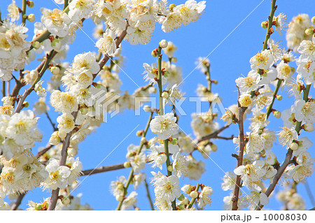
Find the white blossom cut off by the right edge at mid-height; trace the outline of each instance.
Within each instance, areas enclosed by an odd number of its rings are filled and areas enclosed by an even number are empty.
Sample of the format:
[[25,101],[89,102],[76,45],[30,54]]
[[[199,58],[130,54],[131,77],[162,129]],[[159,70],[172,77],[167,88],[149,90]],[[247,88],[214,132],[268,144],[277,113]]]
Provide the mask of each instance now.
[[295,101],[291,108],[291,112],[295,114],[295,120],[298,122],[315,122],[315,102],[304,100]]

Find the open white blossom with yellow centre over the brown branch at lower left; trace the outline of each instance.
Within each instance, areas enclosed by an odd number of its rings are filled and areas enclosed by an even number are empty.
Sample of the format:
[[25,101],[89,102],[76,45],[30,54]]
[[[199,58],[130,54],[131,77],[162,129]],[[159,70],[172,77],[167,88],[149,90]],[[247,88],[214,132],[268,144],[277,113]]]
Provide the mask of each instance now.
[[43,182],[43,188],[61,189],[68,185],[68,178],[71,174],[70,168],[67,166],[59,166],[57,159],[49,159],[45,170],[49,173],[49,177]]

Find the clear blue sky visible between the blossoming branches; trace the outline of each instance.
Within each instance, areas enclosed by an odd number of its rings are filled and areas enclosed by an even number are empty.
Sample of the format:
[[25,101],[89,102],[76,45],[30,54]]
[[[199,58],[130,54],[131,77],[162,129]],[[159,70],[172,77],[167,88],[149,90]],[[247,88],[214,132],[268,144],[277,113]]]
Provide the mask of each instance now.
[[[170,1],[170,3],[182,3],[184,1]],[[5,16],[5,8],[10,3],[9,0],[1,0],[0,8],[2,17]],[[39,8],[43,7],[43,1],[34,1],[34,8],[27,8],[27,13],[34,13],[36,21],[40,20]],[[18,1],[20,4],[20,1]],[[40,5],[41,4],[41,5]],[[258,6],[260,4],[260,6]],[[275,15],[285,13],[288,21],[293,16],[299,13],[307,13],[310,17],[314,16],[315,2],[314,0],[287,0],[277,1],[278,9]],[[55,4],[51,0],[45,1],[46,8],[55,8]],[[258,6],[258,7],[257,7]],[[256,8],[257,7],[257,8]],[[254,11],[253,9],[256,8]],[[123,70],[130,75],[132,80],[139,86],[146,85],[143,80],[144,69],[142,64],[144,62],[151,64],[155,62],[155,58],[151,57],[151,51],[157,47],[159,41],[165,38],[167,41],[172,41],[179,50],[175,52],[175,57],[178,58],[176,63],[183,68],[183,77],[191,73],[195,69],[195,61],[197,57],[207,57],[211,61],[211,77],[218,80],[218,85],[214,85],[213,91],[217,92],[223,99],[223,106],[228,107],[237,102],[237,92],[235,87],[235,79],[241,73],[246,75],[250,71],[249,59],[253,57],[259,50],[262,49],[262,42],[265,40],[265,29],[260,27],[262,21],[267,20],[270,11],[270,0],[252,0],[252,1],[207,1],[207,8],[205,13],[201,16],[200,20],[189,24],[186,27],[181,27],[171,33],[165,34],[158,24],[154,36],[148,45],[130,45],[130,43],[123,42],[123,55],[127,58]],[[252,13],[251,13],[252,12]],[[248,15],[251,13],[251,15]],[[247,17],[247,18],[246,18]],[[246,20],[244,20],[246,18]],[[243,22],[242,22],[243,21]],[[29,39],[33,36],[33,29],[29,22]],[[236,28],[237,27],[237,28]],[[236,29],[235,29],[236,28]],[[92,37],[94,24],[90,20],[84,22],[83,30],[86,34]],[[235,29],[235,30],[234,30]],[[234,30],[234,31],[233,31]],[[231,33],[232,32],[232,33]],[[279,36],[275,33],[272,35],[276,41],[284,41],[283,47],[286,47],[285,37]],[[225,39],[225,41],[223,41]],[[222,42],[223,41],[223,42]],[[94,43],[82,31],[77,31],[76,41],[70,45],[67,61],[71,62],[73,57],[79,53],[96,51]],[[38,62],[34,61],[27,69],[34,69]],[[44,80],[49,80],[50,72],[46,72]],[[120,72],[120,79],[123,81],[121,87],[122,91],[128,90],[130,94],[137,89],[130,78],[123,72]],[[202,83],[207,85],[204,75],[197,69],[193,71],[188,78],[186,78],[182,85],[183,92],[186,96],[196,96],[197,84]],[[283,98],[286,96],[286,90],[282,92]],[[313,94],[310,92],[310,94]],[[34,102],[37,96],[34,93],[29,96],[29,101]],[[283,101],[276,101],[274,108],[284,110],[290,107],[293,103],[293,98],[283,99]],[[187,116],[181,117],[179,125],[187,134],[193,134],[190,127],[191,117],[190,114],[194,112],[195,108],[193,103],[186,103],[184,109]],[[204,111],[207,111],[207,104],[204,105]],[[57,118],[57,113],[50,109],[50,115],[54,119]],[[97,132],[88,136],[87,141],[80,143],[79,157],[83,162],[83,168],[94,168],[102,161],[117,145],[118,148],[114,150],[107,159],[105,159],[101,166],[111,164],[118,164],[125,161],[125,153],[127,146],[131,143],[139,145],[139,137],[135,134],[137,130],[144,129],[148,119],[148,114],[141,113],[141,116],[134,117],[133,111],[125,111],[123,114],[118,114],[108,123],[102,124],[102,127],[97,129]],[[271,124],[269,128],[274,131],[279,131],[281,120],[277,120],[272,115],[269,117]],[[223,122],[220,122],[223,126]],[[123,139],[130,134],[130,131],[139,127],[123,141]],[[246,123],[248,129],[248,123]],[[36,147],[45,145],[48,142],[52,129],[44,115],[41,116],[38,127],[44,133],[42,143],[38,143]],[[237,126],[232,126],[223,132],[223,136],[235,136],[238,134]],[[148,134],[148,138],[153,134]],[[314,141],[314,133],[304,134]],[[123,141],[123,142],[122,142]],[[223,207],[223,197],[228,196],[230,192],[223,192],[221,189],[221,182],[225,171],[232,171],[235,168],[236,160],[230,154],[237,152],[235,145],[231,141],[215,141],[218,145],[218,151],[211,153],[211,158],[221,166],[218,168],[216,164],[210,159],[204,159],[200,154],[195,155],[197,159],[202,159],[206,163],[207,172],[204,173],[202,178],[198,181],[190,181],[192,185],[202,182],[204,185],[209,185],[214,189],[212,196],[212,204],[207,207],[207,210],[221,210]],[[281,148],[279,143],[274,143],[274,152],[279,156],[279,161],[283,161],[286,149]],[[309,148],[309,152],[315,157],[314,146]],[[36,148],[34,148],[36,153]],[[151,177],[150,168],[146,169],[148,177]],[[165,171],[165,170],[164,170]],[[83,193],[82,201],[87,202],[95,210],[113,210],[117,207],[118,202],[109,192],[109,185],[111,180],[116,180],[120,175],[129,175],[130,170],[111,171],[108,173],[99,173],[91,175],[85,179],[84,182],[76,189],[74,194]],[[181,183],[184,185],[187,180]],[[308,179],[309,185],[315,185],[315,178],[312,176]],[[313,187],[314,188],[314,187]],[[151,195],[153,196],[153,187],[150,187]],[[278,188],[279,189],[279,188]],[[132,188],[129,189],[129,192]],[[148,200],[146,199],[145,187],[141,186],[139,193],[139,208],[141,210],[148,210],[150,208]],[[297,192],[302,194],[307,203],[307,208],[312,208],[309,197],[305,192],[305,187],[299,184]],[[315,190],[313,189],[313,194]],[[50,196],[48,192],[41,192],[41,189],[34,189],[29,192],[22,202],[21,208],[27,207],[27,201],[32,200],[35,202],[43,201],[43,198]],[[272,198],[271,202],[266,208],[279,209],[281,203]]]

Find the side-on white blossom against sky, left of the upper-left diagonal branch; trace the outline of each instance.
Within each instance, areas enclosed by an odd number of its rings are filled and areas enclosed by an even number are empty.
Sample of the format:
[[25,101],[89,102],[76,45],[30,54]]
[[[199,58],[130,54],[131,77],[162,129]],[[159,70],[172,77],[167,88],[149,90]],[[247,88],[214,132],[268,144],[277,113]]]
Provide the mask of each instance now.
[[116,51],[115,38],[115,33],[111,29],[107,28],[103,37],[99,38],[96,43],[97,48],[99,48],[99,52],[102,52],[104,55],[108,54],[109,56],[113,56]]

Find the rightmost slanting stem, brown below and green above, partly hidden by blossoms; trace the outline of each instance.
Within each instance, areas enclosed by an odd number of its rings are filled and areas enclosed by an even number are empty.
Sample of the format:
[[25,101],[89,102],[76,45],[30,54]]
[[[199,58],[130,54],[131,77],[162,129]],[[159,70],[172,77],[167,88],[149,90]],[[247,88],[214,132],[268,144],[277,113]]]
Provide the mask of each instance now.
[[[309,89],[310,88],[311,88],[311,85],[307,85],[307,87],[303,90],[303,92],[304,92],[303,100],[305,102],[307,102],[309,100]],[[302,129],[301,124],[302,124],[302,122],[297,122],[297,124],[295,125],[295,131],[297,132],[297,134],[300,134],[300,131]],[[291,150],[289,148],[288,152],[286,153],[286,159],[284,159],[283,164],[279,167],[278,171],[276,171],[276,175],[274,175],[274,178],[272,178],[272,183],[269,185],[269,187],[267,188],[267,190],[265,192],[265,194],[268,197],[274,191],[274,187],[276,187],[276,184],[278,183],[282,174],[286,170],[286,167],[288,166],[288,164],[290,164],[290,160],[292,158],[292,155],[293,155],[293,150]],[[262,207],[263,207],[263,205],[259,203],[258,206],[255,208],[255,210],[261,210]]]

